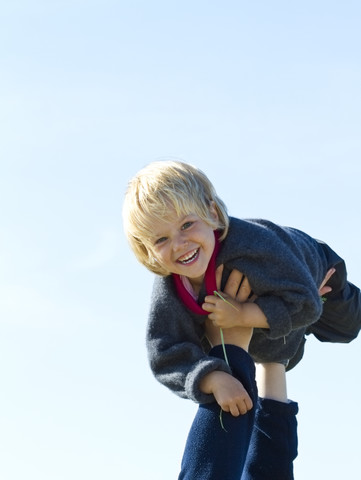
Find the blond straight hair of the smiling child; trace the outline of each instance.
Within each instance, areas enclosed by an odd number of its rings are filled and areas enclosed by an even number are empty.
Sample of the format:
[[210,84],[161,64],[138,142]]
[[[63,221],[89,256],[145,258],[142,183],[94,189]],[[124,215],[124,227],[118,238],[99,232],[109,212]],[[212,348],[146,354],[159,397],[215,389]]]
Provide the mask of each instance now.
[[[218,219],[211,215],[211,207]],[[168,275],[152,253],[154,220],[194,213],[214,230],[220,240],[227,235],[227,208],[207,176],[198,168],[179,161],[156,161],[140,170],[129,182],[123,206],[124,230],[137,259],[150,271]]]

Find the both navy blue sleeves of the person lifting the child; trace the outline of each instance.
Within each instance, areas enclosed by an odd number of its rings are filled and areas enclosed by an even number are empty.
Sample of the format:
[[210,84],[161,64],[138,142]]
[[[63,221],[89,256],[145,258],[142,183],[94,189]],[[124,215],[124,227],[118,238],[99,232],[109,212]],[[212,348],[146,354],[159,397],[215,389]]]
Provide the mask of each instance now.
[[[234,345],[226,345],[226,349],[233,375],[246,388],[254,408],[239,417],[222,412],[224,430],[219,405],[200,405],[178,480],[292,480],[297,405],[257,400],[251,357]],[[223,358],[222,348],[213,348],[210,355]]]

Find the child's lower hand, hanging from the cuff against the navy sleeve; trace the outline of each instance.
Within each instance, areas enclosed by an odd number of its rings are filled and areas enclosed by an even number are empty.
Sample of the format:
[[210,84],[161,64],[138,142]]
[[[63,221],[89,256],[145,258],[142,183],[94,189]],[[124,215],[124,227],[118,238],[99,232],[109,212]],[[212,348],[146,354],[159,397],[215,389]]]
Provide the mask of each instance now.
[[253,408],[253,402],[242,383],[226,372],[214,371],[201,382],[201,390],[213,393],[218,405],[234,417],[246,414]]

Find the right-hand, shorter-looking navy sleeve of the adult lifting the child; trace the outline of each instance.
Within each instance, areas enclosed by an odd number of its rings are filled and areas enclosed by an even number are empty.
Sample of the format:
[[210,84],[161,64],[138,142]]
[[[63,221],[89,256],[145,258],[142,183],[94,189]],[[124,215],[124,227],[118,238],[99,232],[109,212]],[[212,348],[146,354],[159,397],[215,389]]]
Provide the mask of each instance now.
[[242,480],[292,480],[298,405],[259,398]]

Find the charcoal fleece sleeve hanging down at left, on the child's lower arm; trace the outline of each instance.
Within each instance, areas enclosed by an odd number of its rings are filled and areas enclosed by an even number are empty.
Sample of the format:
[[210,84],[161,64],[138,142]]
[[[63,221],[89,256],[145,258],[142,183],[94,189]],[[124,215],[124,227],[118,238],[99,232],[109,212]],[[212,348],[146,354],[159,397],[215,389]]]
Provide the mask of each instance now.
[[201,392],[201,379],[214,370],[231,373],[225,361],[208,356],[201,345],[202,326],[196,324],[180,300],[156,279],[147,328],[147,350],[155,378],[173,393],[196,403],[213,402]]

